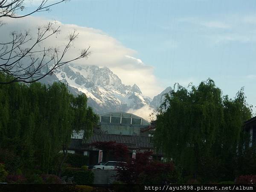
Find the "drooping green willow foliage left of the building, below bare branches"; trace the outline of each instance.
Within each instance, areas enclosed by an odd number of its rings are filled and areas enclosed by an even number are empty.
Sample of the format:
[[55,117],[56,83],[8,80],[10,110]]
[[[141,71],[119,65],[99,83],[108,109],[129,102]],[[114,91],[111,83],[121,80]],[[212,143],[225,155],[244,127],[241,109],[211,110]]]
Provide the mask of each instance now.
[[[0,73],[0,81],[10,78]],[[13,173],[17,168],[56,172],[55,157],[69,145],[72,131],[84,129],[89,136],[98,118],[84,94],[74,97],[57,82],[0,85],[0,114],[0,148],[18,157],[8,165]]]

